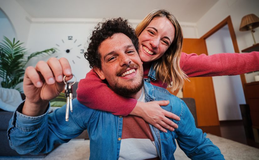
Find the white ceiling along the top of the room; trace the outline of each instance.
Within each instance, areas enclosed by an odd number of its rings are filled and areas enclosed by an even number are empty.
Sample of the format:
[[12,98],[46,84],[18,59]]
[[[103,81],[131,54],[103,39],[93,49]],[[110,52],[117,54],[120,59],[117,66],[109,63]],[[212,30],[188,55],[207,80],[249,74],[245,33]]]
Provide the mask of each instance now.
[[143,19],[164,8],[180,22],[196,23],[218,0],[16,0],[31,18]]

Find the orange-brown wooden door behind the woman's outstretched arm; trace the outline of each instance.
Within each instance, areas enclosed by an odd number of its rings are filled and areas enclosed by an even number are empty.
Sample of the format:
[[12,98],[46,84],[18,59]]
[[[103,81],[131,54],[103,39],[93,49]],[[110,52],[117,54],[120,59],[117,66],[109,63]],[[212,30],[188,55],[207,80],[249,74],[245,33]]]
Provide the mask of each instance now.
[[[207,54],[204,39],[184,39],[183,52],[190,54]],[[183,87],[184,98],[194,98],[196,102],[198,126],[219,125],[219,117],[213,82],[211,77],[192,77]]]

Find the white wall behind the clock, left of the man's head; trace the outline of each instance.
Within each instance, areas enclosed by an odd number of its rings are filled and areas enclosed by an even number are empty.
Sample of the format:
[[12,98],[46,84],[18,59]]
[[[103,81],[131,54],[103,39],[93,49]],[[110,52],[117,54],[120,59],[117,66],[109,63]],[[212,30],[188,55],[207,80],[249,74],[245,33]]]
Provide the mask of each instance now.
[[[95,24],[93,22],[87,24],[76,22],[72,24],[68,22],[62,24],[58,24],[57,22],[45,24],[32,23],[27,48],[30,49],[30,52],[42,51],[53,47],[57,48],[59,51],[51,56],[67,58],[72,67],[72,73],[77,77],[77,81],[79,81],[90,70],[88,61],[84,58],[84,54],[80,52],[81,49],[85,50],[87,47],[86,42],[90,33],[89,31],[93,29]],[[73,40],[68,40],[68,36],[73,36]],[[66,53],[67,49],[71,49],[69,53]],[[28,65],[35,66],[37,61],[46,61],[51,56],[34,58]]]

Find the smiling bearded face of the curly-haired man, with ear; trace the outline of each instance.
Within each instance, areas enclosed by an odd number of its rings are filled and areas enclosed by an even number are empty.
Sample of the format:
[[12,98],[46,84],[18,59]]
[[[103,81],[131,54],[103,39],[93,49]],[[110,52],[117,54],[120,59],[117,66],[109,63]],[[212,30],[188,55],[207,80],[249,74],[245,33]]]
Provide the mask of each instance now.
[[142,61],[132,41],[122,33],[104,40],[98,51],[101,68],[94,67],[101,79],[106,79],[112,90],[123,96],[131,96],[143,86]]

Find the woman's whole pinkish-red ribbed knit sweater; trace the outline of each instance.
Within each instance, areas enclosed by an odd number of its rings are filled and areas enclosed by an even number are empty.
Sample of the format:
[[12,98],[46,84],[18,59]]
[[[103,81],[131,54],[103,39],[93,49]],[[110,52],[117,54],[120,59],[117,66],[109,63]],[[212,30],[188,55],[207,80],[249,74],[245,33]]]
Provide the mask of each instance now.
[[[220,53],[211,56],[182,52],[180,66],[188,77],[239,75],[259,70],[259,52]],[[150,67],[150,65],[143,65],[143,74],[146,78]],[[159,80],[151,83],[159,87],[167,87]],[[77,99],[89,108],[123,116],[130,114],[137,104],[136,99],[122,97],[113,92],[93,69],[79,81]]]

